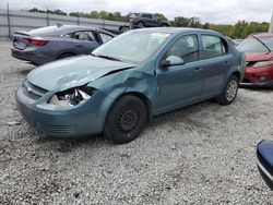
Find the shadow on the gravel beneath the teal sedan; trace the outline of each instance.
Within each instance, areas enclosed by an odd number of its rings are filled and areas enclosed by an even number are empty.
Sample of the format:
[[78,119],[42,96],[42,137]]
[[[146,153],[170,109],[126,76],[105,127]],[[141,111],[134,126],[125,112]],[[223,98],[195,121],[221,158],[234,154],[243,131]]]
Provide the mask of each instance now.
[[[203,123],[200,120],[191,118],[194,113],[201,111],[204,109],[206,106],[218,106],[214,100],[207,100],[203,102],[199,102],[192,106],[188,106],[185,108],[180,108],[164,114],[156,116],[152,119],[152,121],[147,122],[144,130],[156,130],[157,128],[162,128],[165,123],[171,122],[171,123],[177,123],[177,122],[182,122],[185,124],[188,124],[188,126],[198,126],[198,128],[203,128],[207,129],[206,124]],[[32,132],[35,132],[33,128],[28,128],[32,130]],[[79,147],[84,147],[88,146],[90,148],[92,147],[114,147],[118,146],[110,141],[106,140],[103,134],[97,134],[93,136],[84,136],[84,137],[74,137],[74,138],[59,138],[59,137],[52,137],[44,134],[35,134],[37,136],[37,144],[40,144],[41,146],[47,146],[50,147],[50,149],[54,149],[56,152],[60,153],[70,153],[73,152],[74,149],[78,149]],[[143,136],[147,137],[147,136]],[[138,138],[136,138],[138,140]],[[130,144],[130,143],[129,143]],[[126,145],[121,145],[126,146]]]

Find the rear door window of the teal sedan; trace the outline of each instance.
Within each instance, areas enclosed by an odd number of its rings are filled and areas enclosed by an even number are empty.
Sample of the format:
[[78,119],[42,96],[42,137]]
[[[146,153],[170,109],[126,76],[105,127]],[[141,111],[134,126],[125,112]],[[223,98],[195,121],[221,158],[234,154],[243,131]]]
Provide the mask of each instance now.
[[203,50],[202,59],[221,57],[227,53],[227,43],[218,36],[202,35]]

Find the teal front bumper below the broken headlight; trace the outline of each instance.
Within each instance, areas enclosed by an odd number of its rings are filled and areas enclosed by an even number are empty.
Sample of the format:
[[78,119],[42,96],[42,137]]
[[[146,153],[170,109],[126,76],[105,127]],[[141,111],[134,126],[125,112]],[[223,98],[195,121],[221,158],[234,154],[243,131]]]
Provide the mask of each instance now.
[[56,137],[80,137],[103,132],[112,98],[96,91],[86,102],[62,108],[47,104],[52,95],[52,92],[48,92],[35,100],[23,93],[22,86],[16,92],[17,109],[39,133]]

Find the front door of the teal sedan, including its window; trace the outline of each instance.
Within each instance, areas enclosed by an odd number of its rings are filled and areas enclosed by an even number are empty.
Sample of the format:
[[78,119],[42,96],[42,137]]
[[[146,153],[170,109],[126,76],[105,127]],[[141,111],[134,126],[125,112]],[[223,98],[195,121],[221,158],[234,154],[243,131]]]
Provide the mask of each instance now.
[[199,44],[197,35],[178,37],[166,50],[162,60],[180,58],[185,64],[169,65],[156,70],[157,98],[154,112],[162,113],[199,101],[202,91],[202,68],[199,67]]

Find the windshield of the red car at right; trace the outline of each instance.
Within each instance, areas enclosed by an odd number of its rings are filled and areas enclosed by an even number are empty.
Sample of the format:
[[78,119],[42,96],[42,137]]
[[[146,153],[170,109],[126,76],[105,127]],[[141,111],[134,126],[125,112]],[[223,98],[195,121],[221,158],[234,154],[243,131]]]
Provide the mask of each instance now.
[[[273,50],[273,38],[259,38],[270,50]],[[241,51],[269,51],[269,49],[256,38],[242,40],[237,49]]]

